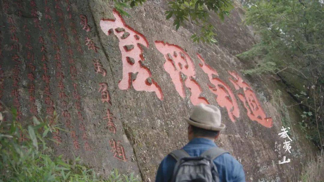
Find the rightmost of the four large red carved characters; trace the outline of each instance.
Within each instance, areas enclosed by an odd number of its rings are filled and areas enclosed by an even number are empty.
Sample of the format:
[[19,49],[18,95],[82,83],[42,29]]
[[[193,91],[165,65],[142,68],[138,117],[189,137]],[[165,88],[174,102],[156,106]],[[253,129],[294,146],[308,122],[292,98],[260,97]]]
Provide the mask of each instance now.
[[257,99],[257,96],[252,91],[252,88],[241,77],[239,77],[236,72],[228,72],[230,75],[232,75],[232,77],[230,77],[229,80],[234,85],[235,89],[243,89],[244,95],[238,93],[237,96],[244,104],[244,107],[248,112],[248,117],[252,121],[256,121],[267,128],[271,128],[272,118],[266,116],[265,112],[263,111],[260,105],[259,100]]

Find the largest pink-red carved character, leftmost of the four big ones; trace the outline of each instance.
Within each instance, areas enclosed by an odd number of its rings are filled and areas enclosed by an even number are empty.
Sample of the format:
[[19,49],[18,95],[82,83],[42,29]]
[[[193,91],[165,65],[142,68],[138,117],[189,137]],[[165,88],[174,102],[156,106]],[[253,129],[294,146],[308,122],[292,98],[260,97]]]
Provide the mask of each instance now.
[[[145,66],[142,44],[148,47],[148,42],[143,34],[135,31],[124,22],[121,15],[114,9],[115,20],[102,19],[100,27],[106,35],[114,33],[119,39],[119,49],[122,59],[122,79],[118,83],[121,90],[133,87],[136,91],[154,91],[157,98],[163,100],[163,94],[160,86],[151,78],[151,71]],[[136,74],[132,80],[132,74]]]

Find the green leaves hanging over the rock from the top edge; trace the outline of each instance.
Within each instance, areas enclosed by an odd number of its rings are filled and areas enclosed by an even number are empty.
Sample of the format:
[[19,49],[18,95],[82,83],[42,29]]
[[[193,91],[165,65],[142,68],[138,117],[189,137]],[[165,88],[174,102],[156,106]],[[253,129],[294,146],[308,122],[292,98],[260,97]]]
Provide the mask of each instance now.
[[[130,8],[143,4],[145,0],[115,0],[115,8],[121,15],[129,16],[123,8]],[[168,10],[165,12],[166,19],[173,17],[173,26],[178,30],[186,22],[191,23],[195,29],[191,38],[193,42],[216,43],[215,27],[210,23],[210,15],[214,12],[224,21],[233,9],[230,0],[174,0],[169,1]]]

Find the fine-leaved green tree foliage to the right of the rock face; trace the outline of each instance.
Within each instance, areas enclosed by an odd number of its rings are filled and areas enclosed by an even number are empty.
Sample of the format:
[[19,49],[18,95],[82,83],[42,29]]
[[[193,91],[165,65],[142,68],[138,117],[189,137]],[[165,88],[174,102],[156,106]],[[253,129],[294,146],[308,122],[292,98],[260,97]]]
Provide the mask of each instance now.
[[[324,5],[318,0],[260,0],[247,8],[245,24],[252,25],[260,42],[237,55],[256,60],[248,74],[272,72],[292,86],[295,93],[306,95],[295,99],[302,107],[311,126],[314,141],[323,147],[324,137]],[[297,94],[297,95],[298,95]],[[308,124],[309,126],[309,124]],[[310,127],[309,127],[310,128]]]

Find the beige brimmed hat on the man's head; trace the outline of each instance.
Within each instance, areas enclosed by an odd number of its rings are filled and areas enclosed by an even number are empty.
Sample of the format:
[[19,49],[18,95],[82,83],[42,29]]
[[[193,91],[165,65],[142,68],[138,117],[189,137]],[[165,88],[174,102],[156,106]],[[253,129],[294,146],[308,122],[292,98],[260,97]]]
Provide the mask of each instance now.
[[190,118],[184,119],[191,125],[206,130],[221,131],[225,124],[221,123],[221,112],[218,107],[210,104],[199,104],[194,107]]

